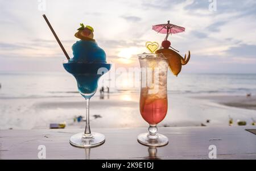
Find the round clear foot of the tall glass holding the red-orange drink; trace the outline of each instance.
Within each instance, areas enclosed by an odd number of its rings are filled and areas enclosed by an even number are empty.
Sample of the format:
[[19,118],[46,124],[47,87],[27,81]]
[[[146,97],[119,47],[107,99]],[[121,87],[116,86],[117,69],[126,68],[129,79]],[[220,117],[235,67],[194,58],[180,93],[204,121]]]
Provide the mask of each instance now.
[[138,135],[138,142],[149,147],[162,147],[168,144],[168,137],[162,134],[151,136],[148,133]]

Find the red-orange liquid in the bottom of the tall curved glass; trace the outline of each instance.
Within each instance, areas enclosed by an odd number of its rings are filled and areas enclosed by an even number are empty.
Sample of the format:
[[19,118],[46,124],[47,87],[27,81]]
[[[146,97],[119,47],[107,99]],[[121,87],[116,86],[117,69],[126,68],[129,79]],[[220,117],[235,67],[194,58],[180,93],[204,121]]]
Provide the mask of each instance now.
[[142,118],[149,124],[158,124],[167,114],[167,98],[152,98],[141,95],[139,110]]

